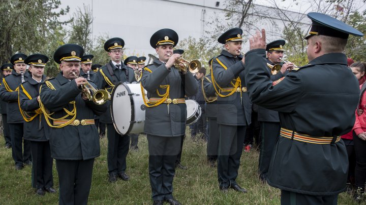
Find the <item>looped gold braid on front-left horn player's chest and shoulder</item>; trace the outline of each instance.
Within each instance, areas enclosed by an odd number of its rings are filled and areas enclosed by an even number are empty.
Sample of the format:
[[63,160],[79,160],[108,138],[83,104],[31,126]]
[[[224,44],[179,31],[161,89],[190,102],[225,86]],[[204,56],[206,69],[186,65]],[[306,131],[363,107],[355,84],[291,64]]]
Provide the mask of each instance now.
[[[46,85],[47,85],[47,87],[48,88],[50,88],[50,89],[52,89],[52,90],[56,90],[54,87],[53,87],[53,85],[51,84],[51,82],[50,81],[45,81],[45,83],[46,83]],[[40,87],[40,94],[41,94],[41,89],[42,89],[42,86]],[[47,124],[48,124],[48,126],[49,127],[51,127],[51,128],[63,128],[63,127],[65,127],[65,126],[68,126],[68,125],[70,125],[71,124],[71,122],[73,122],[74,120],[75,120],[75,118],[76,118],[76,102],[75,102],[75,100],[74,101],[71,101],[71,102],[69,102],[70,104],[73,104],[73,109],[71,110],[71,111],[69,111],[69,110],[67,110],[65,107],[63,108],[64,109],[64,111],[67,113],[65,116],[63,116],[63,117],[61,117],[61,118],[52,118],[51,117],[51,115],[54,113],[54,112],[52,112],[52,113],[50,113],[49,114],[49,111],[47,110],[47,108],[45,108],[44,107],[44,105],[43,105],[43,103],[42,103],[42,101],[41,101],[41,99],[40,99],[40,102],[39,102],[39,104],[40,104],[40,107],[41,107],[41,110],[42,110],[42,112],[43,112],[43,114],[44,114],[44,116],[45,116],[45,119],[46,119],[46,122],[47,122]],[[71,119],[67,119],[68,121],[67,122],[65,122],[65,124],[63,124],[63,125],[58,125],[58,126],[54,126],[54,125],[52,125],[51,124],[51,122],[49,121],[49,119],[52,119],[52,120],[60,120],[60,119],[65,119],[66,117],[68,117],[68,116],[73,116]]]

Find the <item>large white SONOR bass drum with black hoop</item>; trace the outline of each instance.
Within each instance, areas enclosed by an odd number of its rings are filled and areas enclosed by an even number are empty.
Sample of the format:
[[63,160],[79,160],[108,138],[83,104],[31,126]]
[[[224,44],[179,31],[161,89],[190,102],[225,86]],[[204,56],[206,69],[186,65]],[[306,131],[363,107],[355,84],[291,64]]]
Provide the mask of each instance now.
[[114,128],[120,135],[143,132],[145,109],[139,83],[119,83],[114,87],[111,114]]

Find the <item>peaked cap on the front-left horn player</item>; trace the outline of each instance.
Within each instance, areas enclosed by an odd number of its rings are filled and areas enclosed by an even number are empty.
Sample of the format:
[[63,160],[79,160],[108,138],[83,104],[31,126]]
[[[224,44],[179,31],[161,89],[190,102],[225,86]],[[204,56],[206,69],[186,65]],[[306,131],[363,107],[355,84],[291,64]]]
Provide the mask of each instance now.
[[53,60],[60,64],[61,61],[81,61],[84,49],[77,44],[65,44],[55,51]]

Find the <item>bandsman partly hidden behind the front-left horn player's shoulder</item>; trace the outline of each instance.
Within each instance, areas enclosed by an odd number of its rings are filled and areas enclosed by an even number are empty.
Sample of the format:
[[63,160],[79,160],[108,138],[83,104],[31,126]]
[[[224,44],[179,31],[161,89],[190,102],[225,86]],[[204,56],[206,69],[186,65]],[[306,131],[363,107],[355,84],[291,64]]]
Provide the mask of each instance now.
[[[33,54],[25,58],[31,75],[19,87],[19,109],[24,118],[24,139],[31,142],[32,150],[32,187],[36,193],[44,195],[44,191],[55,193],[53,188],[51,151],[49,136],[46,136],[47,124],[39,105],[39,89],[45,81],[44,67],[48,57]],[[46,128],[45,128],[46,127]],[[48,134],[48,133],[47,133]]]

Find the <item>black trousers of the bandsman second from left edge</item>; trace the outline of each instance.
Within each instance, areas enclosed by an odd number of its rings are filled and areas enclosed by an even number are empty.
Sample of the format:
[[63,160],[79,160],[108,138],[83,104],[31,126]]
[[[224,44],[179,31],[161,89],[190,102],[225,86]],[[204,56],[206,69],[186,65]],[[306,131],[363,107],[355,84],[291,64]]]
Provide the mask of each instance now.
[[8,125],[12,142],[12,156],[15,165],[23,166],[23,163],[32,161],[31,143],[28,140],[23,141],[23,123],[9,123]]

